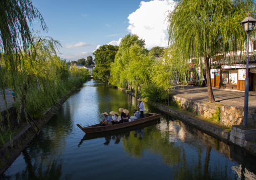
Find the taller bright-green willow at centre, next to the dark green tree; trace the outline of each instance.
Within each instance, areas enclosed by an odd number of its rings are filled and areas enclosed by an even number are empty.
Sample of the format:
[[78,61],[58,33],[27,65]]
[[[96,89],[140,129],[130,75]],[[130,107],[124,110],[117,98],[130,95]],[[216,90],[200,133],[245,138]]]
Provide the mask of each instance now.
[[137,35],[122,38],[114,63],[111,64],[111,82],[121,87],[134,87],[149,80],[153,57],[147,56],[145,41]]

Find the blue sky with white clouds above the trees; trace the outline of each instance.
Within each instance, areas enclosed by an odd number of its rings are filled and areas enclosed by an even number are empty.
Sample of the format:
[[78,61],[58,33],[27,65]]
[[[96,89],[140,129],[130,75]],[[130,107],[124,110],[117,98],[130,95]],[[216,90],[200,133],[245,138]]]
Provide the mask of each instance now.
[[33,31],[60,42],[59,56],[77,61],[100,46],[118,46],[132,33],[144,39],[148,50],[168,46],[167,21],[174,8],[172,0],[32,0],[42,15],[47,32],[35,20]]

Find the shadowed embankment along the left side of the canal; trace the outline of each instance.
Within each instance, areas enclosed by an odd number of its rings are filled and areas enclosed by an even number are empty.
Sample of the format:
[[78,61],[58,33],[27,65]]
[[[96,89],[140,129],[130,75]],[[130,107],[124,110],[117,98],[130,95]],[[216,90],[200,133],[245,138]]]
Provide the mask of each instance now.
[[[68,99],[68,97],[76,91],[77,88],[72,89],[69,93],[62,96],[58,103],[55,106],[50,107],[43,114],[43,118],[37,119],[36,124],[39,128],[43,128],[43,126],[51,119],[51,117],[58,111],[61,105]],[[16,109],[11,107],[8,109],[10,115],[10,121],[14,122],[17,114]],[[2,117],[4,117],[4,121],[7,121],[7,111],[3,111],[1,113]],[[5,123],[2,121],[2,125]],[[32,122],[33,124],[33,122]],[[35,125],[33,124],[35,127]],[[37,129],[37,128],[36,128]],[[30,124],[24,127],[15,137],[13,137],[12,141],[7,142],[4,146],[0,147],[0,175],[4,173],[4,171],[9,167],[9,165],[17,158],[17,156],[22,152],[22,150],[26,147],[26,145],[36,136],[33,128]]]

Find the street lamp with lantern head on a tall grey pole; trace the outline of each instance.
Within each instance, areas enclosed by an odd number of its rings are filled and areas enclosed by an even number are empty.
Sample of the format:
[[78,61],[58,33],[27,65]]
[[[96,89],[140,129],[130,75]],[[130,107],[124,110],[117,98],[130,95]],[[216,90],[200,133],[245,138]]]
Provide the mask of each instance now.
[[247,34],[247,57],[246,57],[246,78],[245,78],[245,90],[244,90],[244,111],[243,111],[243,126],[247,126],[248,119],[248,99],[249,99],[249,68],[248,68],[248,58],[249,58],[249,33],[253,30],[256,20],[250,17],[249,13],[246,18],[240,23],[242,29]]

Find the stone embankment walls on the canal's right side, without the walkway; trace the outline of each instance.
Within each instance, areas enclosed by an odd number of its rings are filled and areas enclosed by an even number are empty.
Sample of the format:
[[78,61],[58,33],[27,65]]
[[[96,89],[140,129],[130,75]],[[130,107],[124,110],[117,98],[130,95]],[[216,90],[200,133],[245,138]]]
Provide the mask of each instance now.
[[[118,89],[135,96],[135,93],[123,88]],[[137,96],[136,98],[139,98]],[[229,126],[231,128],[231,132],[216,127],[212,123],[208,123],[201,119],[191,117],[185,115],[180,111],[175,111],[163,104],[154,103],[156,107],[160,110],[174,115],[177,119],[182,120],[188,123],[191,126],[194,126],[203,132],[225,141],[226,143],[232,143],[234,145],[240,146],[246,149],[250,154],[256,156],[256,143],[252,143],[252,140],[256,139],[256,129],[254,130],[243,130],[239,125],[243,123],[243,108],[241,107],[232,107],[232,106],[223,106],[223,105],[215,105],[208,104],[198,101],[193,101],[190,99],[180,98],[177,96],[172,96],[172,104],[175,104],[182,108],[183,110],[194,112],[195,114],[201,115],[204,118],[212,118],[219,121],[220,124]],[[248,125],[256,126],[256,109],[249,108],[248,111]]]

